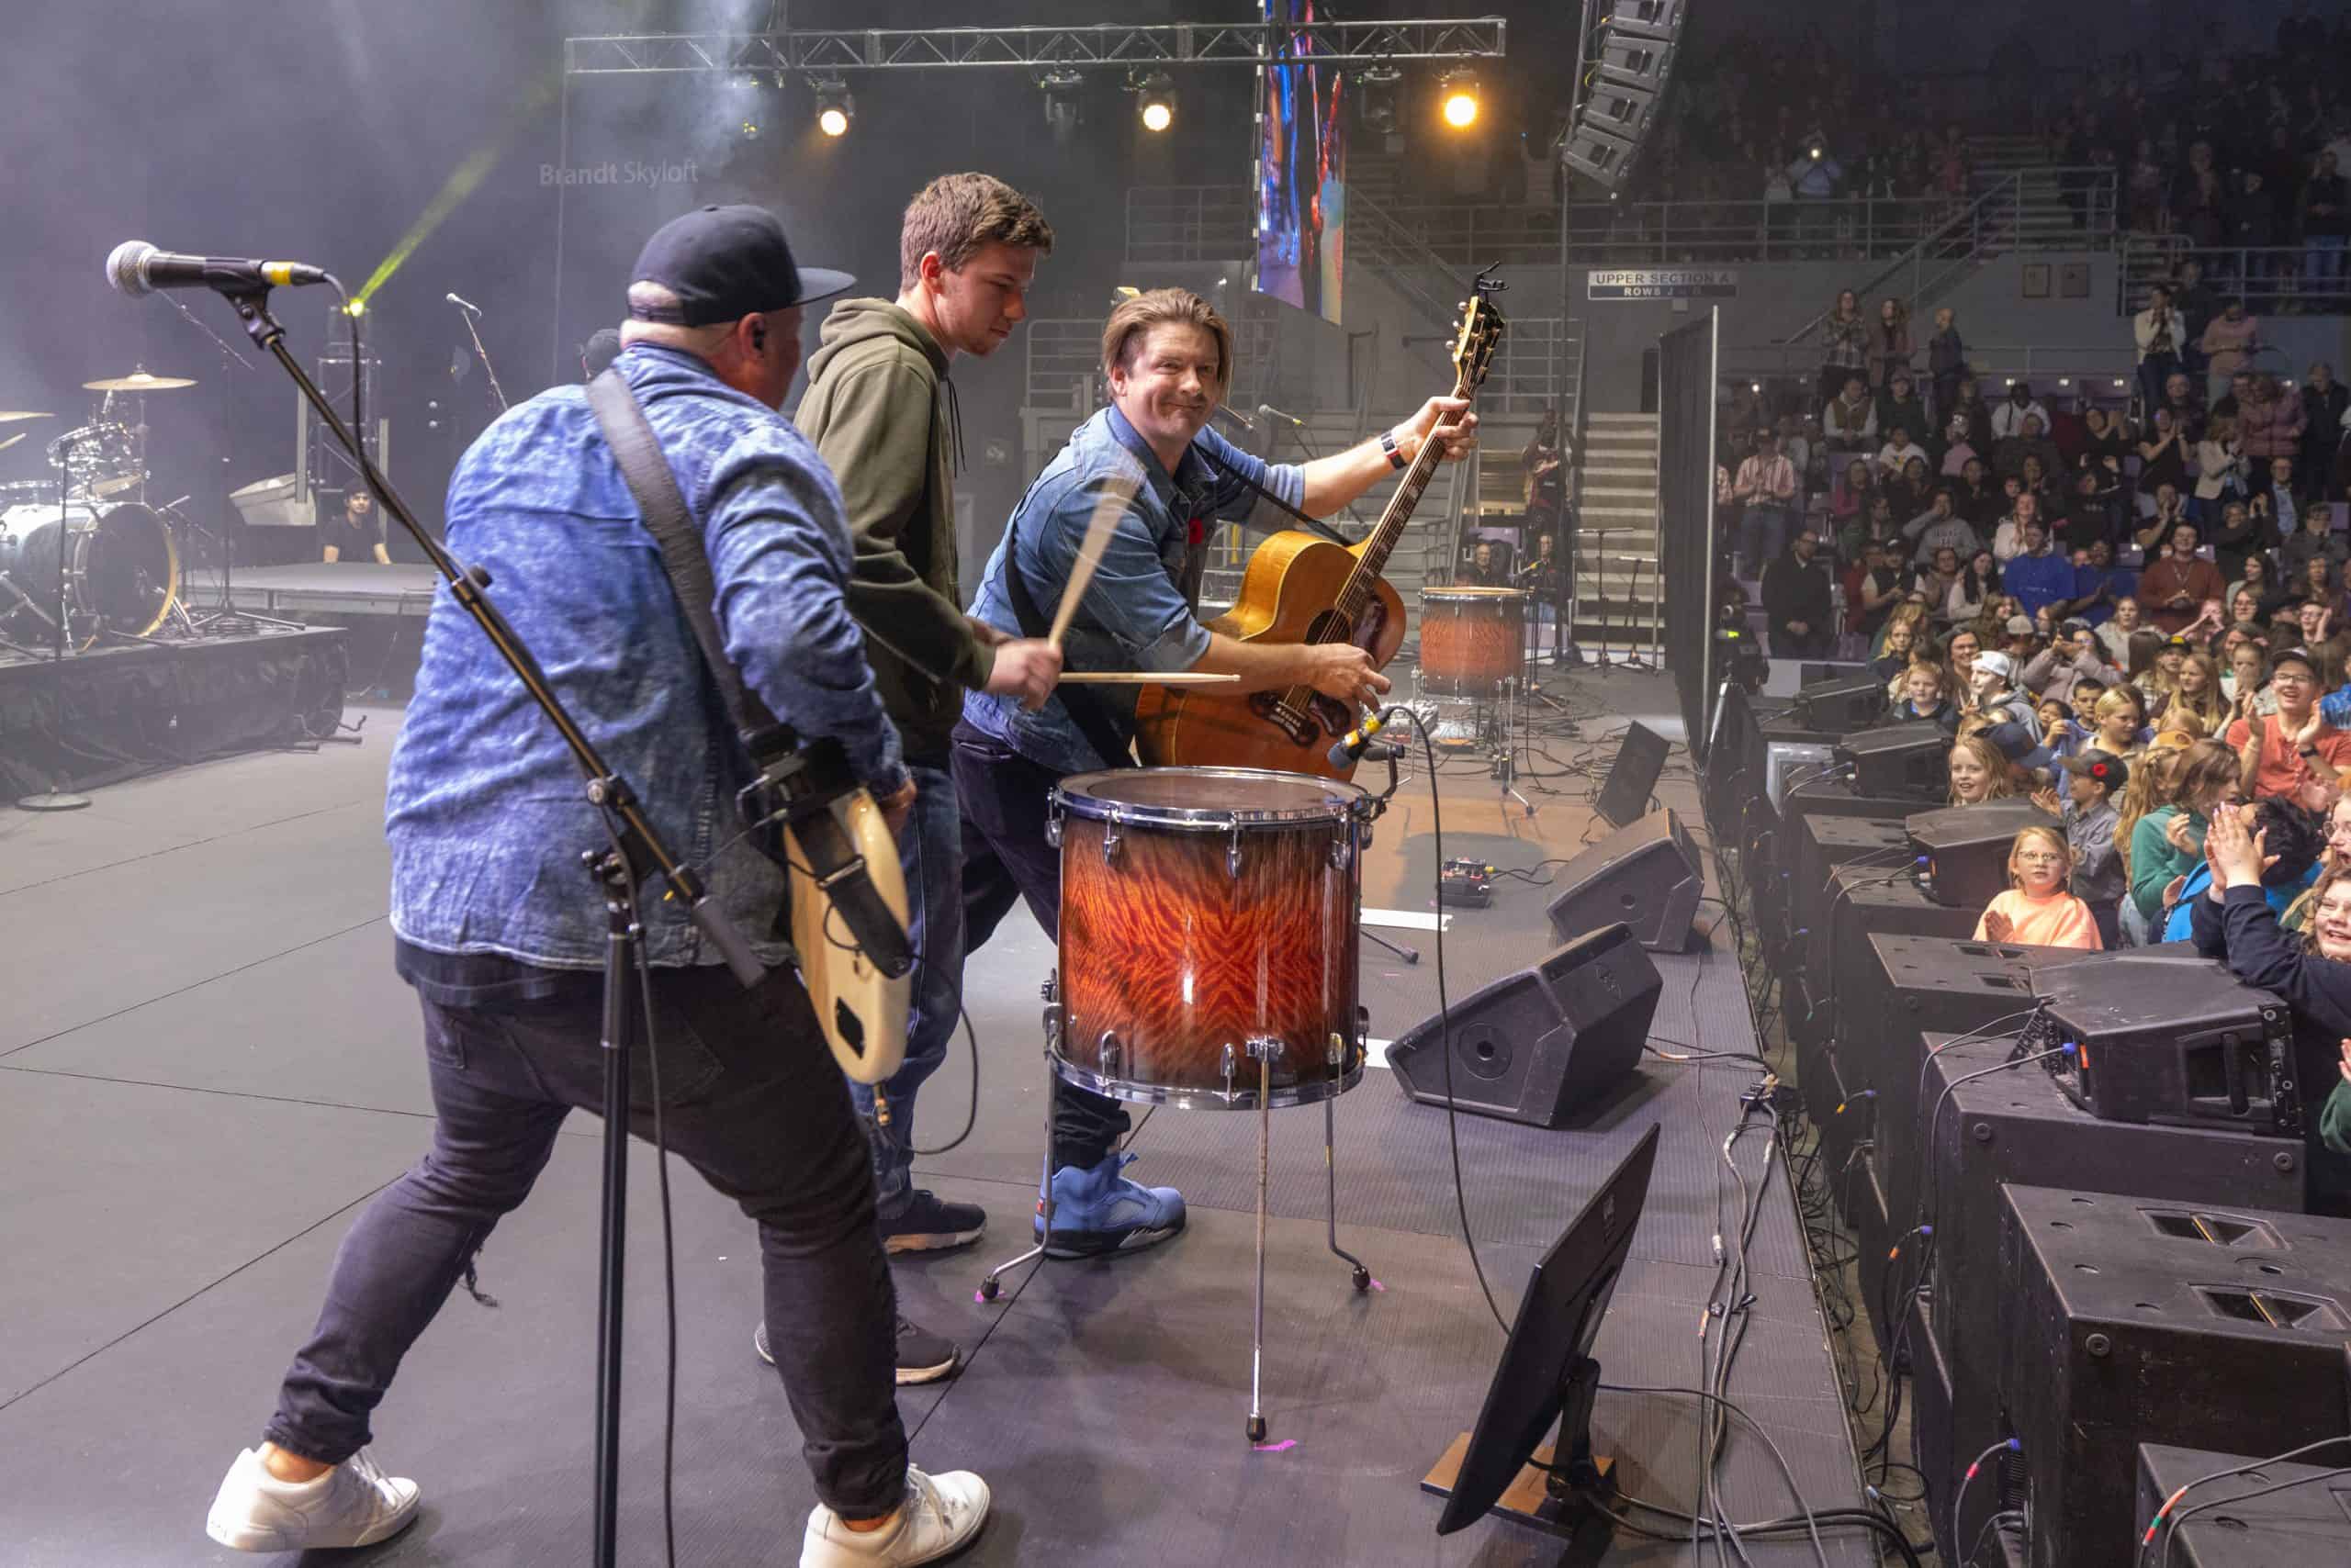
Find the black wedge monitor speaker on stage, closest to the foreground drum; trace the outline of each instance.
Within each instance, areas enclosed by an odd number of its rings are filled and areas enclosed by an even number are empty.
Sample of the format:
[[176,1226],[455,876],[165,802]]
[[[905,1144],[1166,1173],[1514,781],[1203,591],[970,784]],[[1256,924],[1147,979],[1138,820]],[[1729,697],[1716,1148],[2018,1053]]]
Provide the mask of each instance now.
[[[1453,1105],[1479,1117],[1563,1126],[1632,1077],[1665,983],[1625,926],[1587,931],[1533,969],[1453,1006]],[[1387,1048],[1396,1086],[1446,1103],[1446,1018]]]

